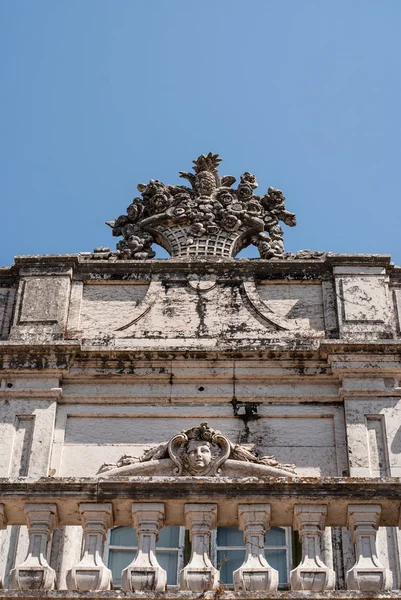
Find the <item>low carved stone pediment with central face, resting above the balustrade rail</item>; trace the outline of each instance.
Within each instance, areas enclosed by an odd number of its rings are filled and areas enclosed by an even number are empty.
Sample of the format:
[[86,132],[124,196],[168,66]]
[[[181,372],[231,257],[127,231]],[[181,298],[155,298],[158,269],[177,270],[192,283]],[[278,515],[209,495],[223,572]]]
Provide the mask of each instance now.
[[124,455],[117,463],[105,463],[98,475],[293,477],[296,472],[294,465],[282,465],[274,456],[258,456],[246,446],[233,444],[205,422],[181,431],[140,458]]

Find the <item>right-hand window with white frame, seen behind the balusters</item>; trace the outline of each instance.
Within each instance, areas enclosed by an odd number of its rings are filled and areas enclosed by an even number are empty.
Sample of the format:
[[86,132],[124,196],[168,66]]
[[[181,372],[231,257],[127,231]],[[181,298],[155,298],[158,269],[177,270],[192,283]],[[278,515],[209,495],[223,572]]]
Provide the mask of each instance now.
[[[279,572],[279,583],[288,583],[291,567],[288,528],[272,527],[266,532],[265,556],[269,565]],[[242,565],[244,559],[243,532],[235,527],[219,527],[212,561],[220,568],[220,579],[223,583],[233,583],[233,571]]]

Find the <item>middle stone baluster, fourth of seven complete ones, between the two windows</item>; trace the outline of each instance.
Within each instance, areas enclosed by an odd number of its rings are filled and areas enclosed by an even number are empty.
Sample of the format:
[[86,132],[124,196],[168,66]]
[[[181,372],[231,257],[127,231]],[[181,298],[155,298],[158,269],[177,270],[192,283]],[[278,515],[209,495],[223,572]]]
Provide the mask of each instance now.
[[191,559],[180,573],[182,590],[205,592],[219,585],[219,571],[209,557],[211,530],[216,529],[217,504],[186,504],[185,527],[190,530]]

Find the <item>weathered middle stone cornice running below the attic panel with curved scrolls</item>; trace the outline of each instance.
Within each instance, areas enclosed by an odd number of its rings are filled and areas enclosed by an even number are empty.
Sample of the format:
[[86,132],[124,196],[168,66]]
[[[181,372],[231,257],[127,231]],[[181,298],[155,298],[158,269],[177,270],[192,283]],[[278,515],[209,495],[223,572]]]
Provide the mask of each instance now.
[[[202,340],[204,343],[204,340]],[[309,342],[309,343],[308,343]],[[138,367],[138,363],[149,361],[191,362],[216,361],[223,363],[232,361],[256,361],[268,369],[269,362],[276,364],[280,360],[283,371],[302,366],[304,375],[322,374],[331,376],[336,372],[364,375],[386,375],[400,373],[401,340],[346,342],[343,340],[305,340],[294,344],[290,341],[274,344],[247,343],[237,348],[227,344],[218,349],[159,348],[144,350],[139,348],[115,348],[85,345],[76,341],[64,341],[42,344],[0,341],[0,370],[3,373],[56,373],[69,372],[74,366],[79,369],[85,366],[87,373],[94,370],[98,373],[129,374],[130,368]],[[287,364],[288,363],[288,364]],[[130,367],[131,365],[131,367]],[[100,370],[99,370],[100,369]],[[322,369],[325,371],[322,372]],[[309,371],[310,370],[310,373]],[[55,394],[56,395],[56,394]]]

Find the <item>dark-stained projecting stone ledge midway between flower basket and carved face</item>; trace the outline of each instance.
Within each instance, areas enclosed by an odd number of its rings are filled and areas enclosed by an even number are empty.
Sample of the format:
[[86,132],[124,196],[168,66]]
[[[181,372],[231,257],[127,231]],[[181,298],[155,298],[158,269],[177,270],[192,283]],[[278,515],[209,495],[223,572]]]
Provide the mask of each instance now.
[[[401,339],[393,340],[361,340],[347,341],[341,339],[285,339],[277,343],[274,340],[266,344],[265,340],[248,340],[243,343],[242,340],[233,343],[216,345],[215,339],[210,339],[209,348],[205,348],[205,339],[199,340],[199,347],[185,347],[180,345],[177,339],[175,347],[169,347],[166,340],[158,339],[159,347],[142,348],[136,347],[115,347],[114,344],[96,345],[96,339],[93,340],[60,340],[49,342],[15,342],[0,341],[0,368],[3,370],[27,370],[35,369],[65,369],[72,364],[79,364],[80,361],[88,365],[88,360],[102,363],[102,370],[106,368],[105,360],[109,362],[107,368],[113,368],[113,361],[138,361],[138,360],[212,360],[232,361],[235,359],[257,360],[265,363],[267,360],[276,361],[330,361],[336,358],[336,355],[347,354],[348,361],[355,362],[366,361],[371,365],[372,361],[383,363],[388,360],[383,355],[395,355],[399,358],[401,353]],[[136,340],[138,342],[138,339]],[[165,346],[163,347],[163,344]],[[213,345],[212,345],[213,344]],[[36,366],[35,355],[40,356],[41,364]],[[354,355],[354,356],[352,356]],[[96,367],[96,365],[93,365]],[[349,367],[351,362],[349,362]],[[371,368],[373,369],[372,365]],[[379,365],[382,369],[383,365]],[[349,370],[349,369],[348,369]],[[356,366],[358,370],[358,366]],[[366,366],[363,365],[359,370],[367,373]]]

